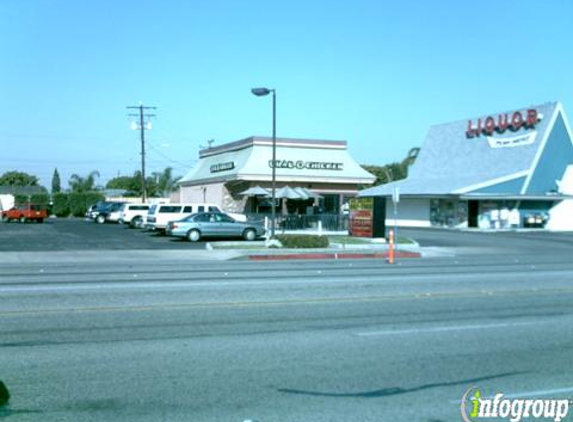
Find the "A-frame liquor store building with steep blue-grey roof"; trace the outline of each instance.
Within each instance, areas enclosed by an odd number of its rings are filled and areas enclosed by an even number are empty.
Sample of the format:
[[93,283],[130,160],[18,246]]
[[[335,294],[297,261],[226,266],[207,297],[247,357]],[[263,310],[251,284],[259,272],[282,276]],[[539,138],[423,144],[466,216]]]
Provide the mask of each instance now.
[[387,224],[573,230],[571,127],[558,102],[432,126],[407,179],[359,196]]

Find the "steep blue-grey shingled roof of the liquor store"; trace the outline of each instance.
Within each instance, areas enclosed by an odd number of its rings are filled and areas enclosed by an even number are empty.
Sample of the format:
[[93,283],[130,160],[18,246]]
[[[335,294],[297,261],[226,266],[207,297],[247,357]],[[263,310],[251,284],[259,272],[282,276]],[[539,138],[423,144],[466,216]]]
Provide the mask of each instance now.
[[[511,118],[516,111],[526,116],[531,109],[537,111],[538,123],[516,131],[472,137],[466,133],[468,119],[432,126],[407,179],[375,186],[359,195],[389,196],[395,187],[399,187],[401,195],[467,194],[488,186],[503,186],[502,190],[513,194],[525,193],[556,122],[566,128],[564,133],[568,134],[569,142],[571,137],[558,102],[493,113],[492,116],[507,114]],[[469,120],[484,122],[486,118],[480,116]],[[567,152],[570,156],[563,160],[573,157],[573,148],[570,151]]]

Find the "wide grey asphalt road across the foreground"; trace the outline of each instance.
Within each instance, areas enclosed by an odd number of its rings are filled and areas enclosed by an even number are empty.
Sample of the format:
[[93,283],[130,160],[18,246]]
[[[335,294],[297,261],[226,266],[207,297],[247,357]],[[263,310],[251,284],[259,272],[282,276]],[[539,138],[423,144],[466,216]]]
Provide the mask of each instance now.
[[0,418],[445,422],[474,385],[573,397],[570,256],[2,265]]

